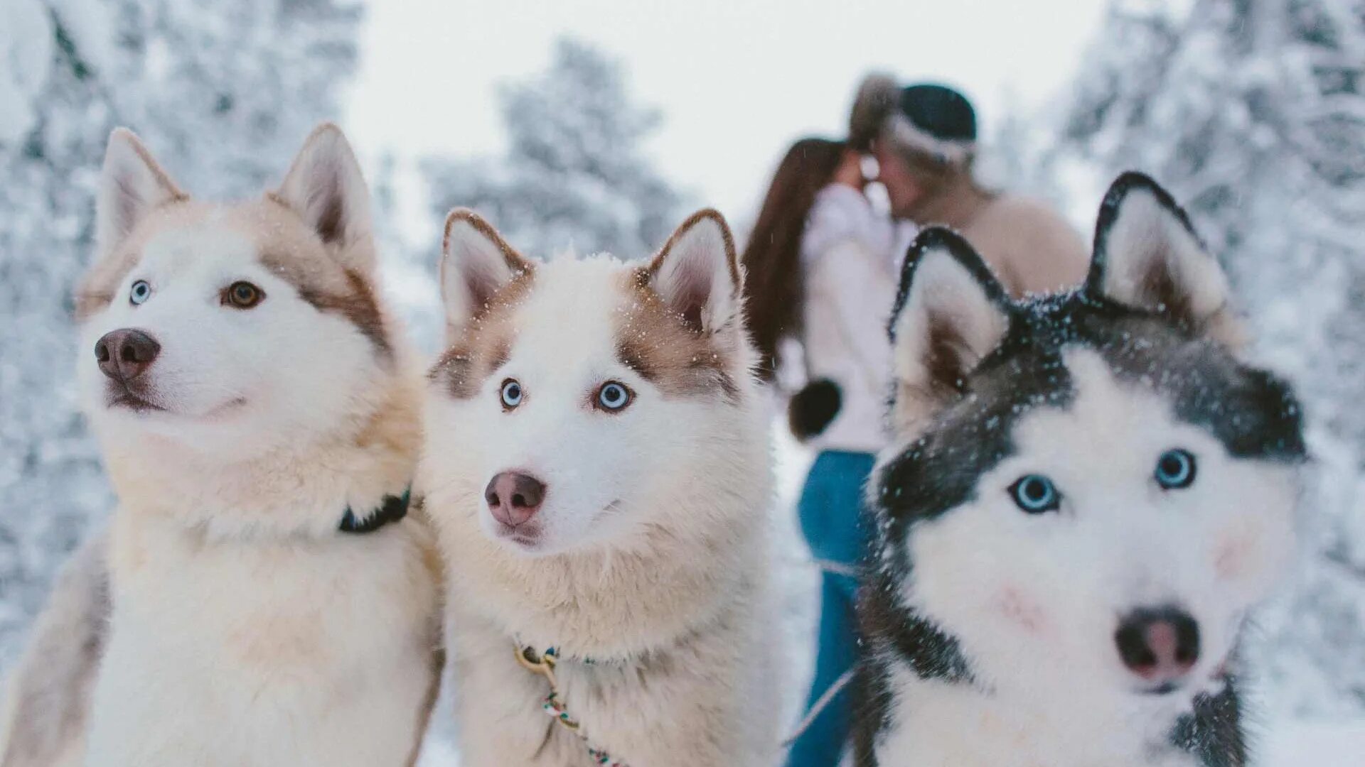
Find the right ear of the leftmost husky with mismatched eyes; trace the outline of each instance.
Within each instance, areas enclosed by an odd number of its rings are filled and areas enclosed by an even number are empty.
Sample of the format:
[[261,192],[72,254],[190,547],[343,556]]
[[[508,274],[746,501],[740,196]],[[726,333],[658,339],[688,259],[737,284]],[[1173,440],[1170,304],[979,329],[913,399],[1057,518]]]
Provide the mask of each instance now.
[[298,213],[343,266],[374,272],[370,190],[341,128],[314,128],[273,197]]

